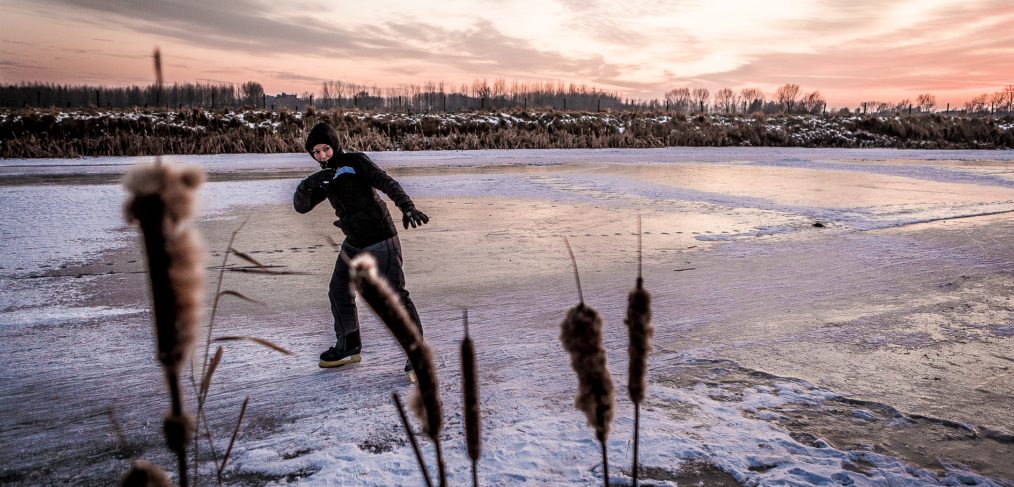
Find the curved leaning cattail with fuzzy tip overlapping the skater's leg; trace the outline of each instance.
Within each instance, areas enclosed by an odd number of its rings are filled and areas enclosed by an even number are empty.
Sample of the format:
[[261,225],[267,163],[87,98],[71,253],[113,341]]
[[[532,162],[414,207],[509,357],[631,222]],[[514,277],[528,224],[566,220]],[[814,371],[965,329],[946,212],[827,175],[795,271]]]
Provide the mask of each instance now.
[[361,254],[350,263],[353,281],[359,294],[376,312],[391,335],[402,345],[412,368],[416,372],[418,394],[413,397],[412,408],[423,423],[423,430],[433,440],[437,453],[437,468],[440,485],[447,484],[443,451],[440,447],[440,429],[443,417],[440,406],[440,388],[437,385],[436,367],[433,366],[433,352],[423,341],[419,327],[409,318],[402,300],[394,294],[382,277],[377,275],[376,260],[369,254]]

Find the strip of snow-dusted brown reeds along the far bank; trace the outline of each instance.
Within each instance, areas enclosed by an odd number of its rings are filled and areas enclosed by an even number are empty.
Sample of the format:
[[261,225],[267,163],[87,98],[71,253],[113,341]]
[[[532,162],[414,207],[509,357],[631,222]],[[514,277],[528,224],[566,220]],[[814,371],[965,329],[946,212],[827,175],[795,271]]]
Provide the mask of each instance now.
[[1010,149],[1014,116],[686,115],[664,110],[6,109],[0,158],[301,152],[316,122],[362,151],[774,146]]

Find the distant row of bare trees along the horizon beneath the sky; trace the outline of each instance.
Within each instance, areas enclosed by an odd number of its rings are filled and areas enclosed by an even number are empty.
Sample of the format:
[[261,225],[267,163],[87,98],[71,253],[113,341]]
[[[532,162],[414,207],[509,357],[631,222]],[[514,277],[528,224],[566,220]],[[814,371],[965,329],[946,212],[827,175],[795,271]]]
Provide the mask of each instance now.
[[[489,81],[451,86],[443,81],[427,81],[396,87],[378,87],[342,80],[323,81],[316,93],[268,95],[263,85],[247,81],[232,84],[174,83],[158,86],[90,86],[52,83],[0,85],[0,105],[6,108],[262,108],[361,109],[387,112],[462,112],[484,110],[562,110],[577,112],[666,111],[677,114],[811,114],[826,113],[827,101],[818,90],[804,92],[798,84],[786,83],[773,93],[756,87],[738,90],[721,88],[712,93],[704,87],[676,87],[662,99],[625,97],[619,92],[562,81]],[[277,106],[277,107],[276,107]],[[983,93],[965,101],[967,114],[1012,113],[1014,85]],[[838,113],[887,115],[932,113],[939,110],[936,96],[920,93],[897,102],[867,100]]]

